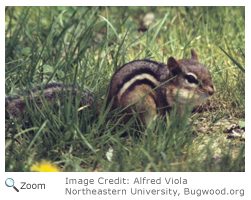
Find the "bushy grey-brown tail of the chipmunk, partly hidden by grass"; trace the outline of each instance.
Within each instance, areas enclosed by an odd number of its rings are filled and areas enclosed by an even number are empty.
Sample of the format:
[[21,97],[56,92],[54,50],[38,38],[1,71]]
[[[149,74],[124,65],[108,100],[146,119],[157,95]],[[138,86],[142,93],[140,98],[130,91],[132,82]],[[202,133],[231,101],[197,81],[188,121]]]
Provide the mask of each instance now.
[[[78,87],[64,86],[60,83],[51,82],[45,88],[40,86],[33,90],[24,90],[19,92],[19,95],[14,97],[7,97],[5,99],[5,118],[9,118],[9,115],[18,118],[27,114],[29,106],[36,104],[40,109],[43,108],[44,103],[50,107],[56,107],[57,102],[61,105],[64,104],[64,98],[62,96],[69,97],[72,92],[72,103],[75,104],[75,98],[81,93],[80,107],[91,106],[94,98],[93,95],[87,91],[80,91]],[[69,100],[69,99],[67,99]]]

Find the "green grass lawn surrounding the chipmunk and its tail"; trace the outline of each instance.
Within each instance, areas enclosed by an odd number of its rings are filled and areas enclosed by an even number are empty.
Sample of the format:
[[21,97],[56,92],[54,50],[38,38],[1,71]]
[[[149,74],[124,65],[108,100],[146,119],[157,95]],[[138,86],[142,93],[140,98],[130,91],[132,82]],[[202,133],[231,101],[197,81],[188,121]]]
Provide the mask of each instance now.
[[[149,12],[155,18],[148,31],[137,31]],[[95,95],[80,114],[67,104],[6,120],[6,171],[30,171],[42,159],[62,171],[245,171],[245,142],[224,133],[245,121],[244,7],[6,7],[5,30],[7,96],[49,81]],[[143,129],[105,110],[109,80],[121,65],[188,58],[191,48],[217,88],[204,109]]]

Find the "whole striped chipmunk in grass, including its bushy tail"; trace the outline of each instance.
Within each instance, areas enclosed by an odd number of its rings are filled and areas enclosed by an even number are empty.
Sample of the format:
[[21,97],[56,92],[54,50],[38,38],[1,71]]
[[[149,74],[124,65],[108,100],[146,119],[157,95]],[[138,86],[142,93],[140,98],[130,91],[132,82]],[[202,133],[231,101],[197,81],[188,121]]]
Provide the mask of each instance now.
[[[158,114],[165,116],[170,113],[176,102],[178,111],[182,112],[187,105],[196,106],[215,93],[209,70],[198,62],[198,56],[191,50],[191,59],[168,59],[167,65],[151,60],[135,60],[120,67],[113,75],[106,107],[111,110],[120,108],[127,115],[127,122],[132,113],[139,114],[144,123],[148,123]],[[80,91],[78,87],[66,87],[60,83],[49,83],[34,91],[25,90],[19,96],[6,98],[6,116],[19,117],[27,112],[24,95],[29,103],[33,101],[42,107],[42,100],[48,105],[60,100],[62,95],[69,95],[72,90],[72,103],[81,92],[80,106],[92,106],[94,97],[87,91]],[[64,102],[60,102],[63,104]],[[54,104],[55,105],[55,104]]]

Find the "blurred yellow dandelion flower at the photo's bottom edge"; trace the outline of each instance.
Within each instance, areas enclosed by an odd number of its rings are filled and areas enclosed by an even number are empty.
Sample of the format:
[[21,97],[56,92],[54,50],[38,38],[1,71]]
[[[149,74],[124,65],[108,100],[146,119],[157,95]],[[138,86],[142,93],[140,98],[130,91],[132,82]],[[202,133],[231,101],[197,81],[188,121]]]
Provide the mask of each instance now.
[[46,160],[42,160],[40,163],[36,162],[30,168],[34,172],[60,172],[58,167]]

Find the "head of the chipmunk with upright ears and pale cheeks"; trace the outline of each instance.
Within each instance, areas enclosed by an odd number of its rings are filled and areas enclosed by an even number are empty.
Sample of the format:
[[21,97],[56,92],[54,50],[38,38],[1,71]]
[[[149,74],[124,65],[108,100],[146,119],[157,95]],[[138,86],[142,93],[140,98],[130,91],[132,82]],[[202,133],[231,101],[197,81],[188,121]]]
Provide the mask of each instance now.
[[171,93],[179,105],[199,105],[216,91],[209,70],[198,62],[193,49],[191,54],[191,59],[168,59],[169,78],[173,79],[171,91],[167,95]]

